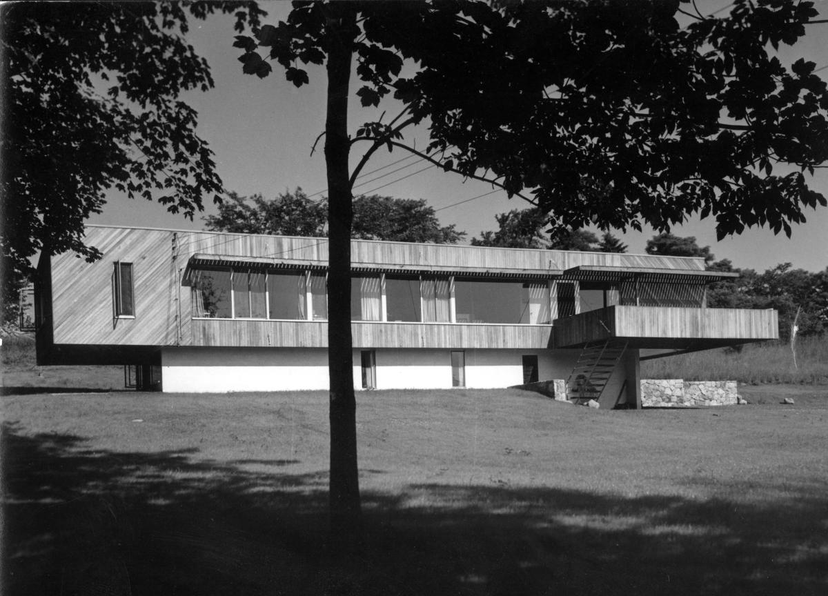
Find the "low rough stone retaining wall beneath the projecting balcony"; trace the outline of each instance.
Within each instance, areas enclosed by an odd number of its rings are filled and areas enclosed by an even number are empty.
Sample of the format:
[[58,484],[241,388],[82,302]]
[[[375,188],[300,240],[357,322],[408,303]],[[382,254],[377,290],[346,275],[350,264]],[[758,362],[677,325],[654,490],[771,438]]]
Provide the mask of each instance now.
[[641,380],[642,406],[735,406],[738,402],[735,381]]

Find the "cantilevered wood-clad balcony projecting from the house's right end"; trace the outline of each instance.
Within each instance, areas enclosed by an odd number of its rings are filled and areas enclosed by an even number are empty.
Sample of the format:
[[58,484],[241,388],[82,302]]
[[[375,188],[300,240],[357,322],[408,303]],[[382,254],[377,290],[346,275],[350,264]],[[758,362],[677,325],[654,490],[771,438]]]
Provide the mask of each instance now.
[[556,320],[552,344],[626,339],[633,348],[705,349],[778,339],[777,311],[609,306]]

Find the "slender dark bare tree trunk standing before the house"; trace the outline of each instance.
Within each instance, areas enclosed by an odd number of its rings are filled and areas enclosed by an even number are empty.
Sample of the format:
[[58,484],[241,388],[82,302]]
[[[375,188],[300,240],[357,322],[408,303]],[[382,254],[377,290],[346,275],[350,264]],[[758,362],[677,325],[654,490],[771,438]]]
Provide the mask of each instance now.
[[[351,190],[348,156],[348,92],[354,11],[329,6],[328,111],[325,164],[328,174],[328,370],[330,376],[330,530],[339,545],[359,541],[362,516],[357,468],[356,399],[351,338]],[[338,22],[337,22],[338,21]]]

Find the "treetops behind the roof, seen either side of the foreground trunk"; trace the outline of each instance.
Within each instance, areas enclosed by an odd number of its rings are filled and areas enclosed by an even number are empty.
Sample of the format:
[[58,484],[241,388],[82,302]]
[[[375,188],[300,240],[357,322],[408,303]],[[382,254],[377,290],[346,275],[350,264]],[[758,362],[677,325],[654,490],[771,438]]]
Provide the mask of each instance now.
[[[275,199],[249,199],[231,192],[218,215],[204,218],[207,228],[224,232],[269,233],[286,236],[328,235],[328,200],[309,199],[301,188]],[[455,244],[465,232],[454,224],[440,226],[434,208],[425,199],[397,199],[368,195],[354,199],[352,238],[397,242]]]

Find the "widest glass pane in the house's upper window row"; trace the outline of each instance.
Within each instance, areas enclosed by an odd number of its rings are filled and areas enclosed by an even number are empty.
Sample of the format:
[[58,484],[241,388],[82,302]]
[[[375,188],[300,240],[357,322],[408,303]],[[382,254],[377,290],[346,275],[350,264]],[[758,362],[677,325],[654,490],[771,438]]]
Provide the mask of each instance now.
[[455,280],[457,322],[520,323],[522,293],[520,281]]

